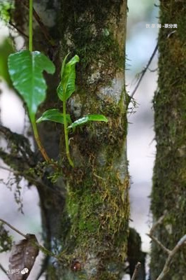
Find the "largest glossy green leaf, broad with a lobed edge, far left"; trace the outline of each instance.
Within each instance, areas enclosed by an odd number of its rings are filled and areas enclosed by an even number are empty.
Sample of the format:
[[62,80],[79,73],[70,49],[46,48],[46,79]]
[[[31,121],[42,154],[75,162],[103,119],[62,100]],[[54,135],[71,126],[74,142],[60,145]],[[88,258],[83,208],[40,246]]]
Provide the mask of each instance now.
[[31,121],[38,106],[45,100],[47,85],[43,71],[55,72],[55,65],[41,52],[22,50],[8,57],[8,71],[15,89],[27,104]]

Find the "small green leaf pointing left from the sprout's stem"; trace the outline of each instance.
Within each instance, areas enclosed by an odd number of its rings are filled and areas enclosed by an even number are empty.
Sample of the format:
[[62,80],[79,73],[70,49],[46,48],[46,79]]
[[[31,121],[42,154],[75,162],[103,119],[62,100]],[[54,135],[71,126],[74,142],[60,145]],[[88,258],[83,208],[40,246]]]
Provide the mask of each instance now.
[[[51,122],[64,124],[64,115],[63,113],[59,112],[58,109],[50,109],[48,111],[45,111],[43,115],[40,118],[38,118],[38,120],[36,120],[36,123],[41,123],[45,120],[50,120]],[[70,115],[66,115],[66,120],[67,123],[72,123]]]

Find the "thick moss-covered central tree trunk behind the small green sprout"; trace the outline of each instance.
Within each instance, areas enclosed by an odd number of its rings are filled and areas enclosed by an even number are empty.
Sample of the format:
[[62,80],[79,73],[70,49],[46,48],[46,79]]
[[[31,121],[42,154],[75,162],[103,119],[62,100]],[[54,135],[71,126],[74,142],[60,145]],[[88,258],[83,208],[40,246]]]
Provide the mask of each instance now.
[[62,279],[121,279],[126,258],[126,5],[124,1],[62,1],[62,53],[70,50],[80,56],[78,87],[69,100],[69,111],[73,120],[87,113],[103,113],[109,119],[108,125],[90,124],[71,135],[75,168],[66,161],[62,249],[67,249],[69,260],[78,259],[82,269],[68,268]]

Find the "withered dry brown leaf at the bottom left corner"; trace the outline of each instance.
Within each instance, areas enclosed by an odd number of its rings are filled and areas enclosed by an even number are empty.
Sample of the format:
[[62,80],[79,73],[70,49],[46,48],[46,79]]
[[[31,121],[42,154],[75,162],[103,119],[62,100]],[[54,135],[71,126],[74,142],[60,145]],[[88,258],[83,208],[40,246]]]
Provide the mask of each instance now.
[[38,255],[38,241],[35,235],[26,235],[12,248],[9,258],[8,277],[10,280],[26,280]]

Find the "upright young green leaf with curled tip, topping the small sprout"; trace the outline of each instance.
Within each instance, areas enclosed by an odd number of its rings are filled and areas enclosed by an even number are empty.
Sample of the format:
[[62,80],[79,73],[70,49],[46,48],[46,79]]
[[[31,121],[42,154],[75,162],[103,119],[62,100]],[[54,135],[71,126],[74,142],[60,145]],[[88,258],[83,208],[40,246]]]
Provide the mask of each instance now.
[[66,55],[64,62],[62,64],[61,71],[61,82],[57,87],[57,94],[59,99],[65,101],[71,97],[71,94],[75,91],[75,80],[76,80],[76,63],[80,61],[78,55],[75,55],[67,64],[66,58],[69,56]]

